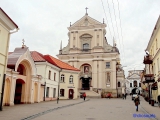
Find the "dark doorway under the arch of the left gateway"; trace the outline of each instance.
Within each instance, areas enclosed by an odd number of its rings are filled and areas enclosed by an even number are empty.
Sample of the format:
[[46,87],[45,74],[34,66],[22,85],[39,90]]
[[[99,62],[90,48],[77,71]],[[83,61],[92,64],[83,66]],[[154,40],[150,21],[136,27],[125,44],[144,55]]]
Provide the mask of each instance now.
[[15,95],[14,95],[14,104],[21,104],[22,103],[22,90],[24,87],[24,81],[22,79],[16,80],[16,88],[15,88]]

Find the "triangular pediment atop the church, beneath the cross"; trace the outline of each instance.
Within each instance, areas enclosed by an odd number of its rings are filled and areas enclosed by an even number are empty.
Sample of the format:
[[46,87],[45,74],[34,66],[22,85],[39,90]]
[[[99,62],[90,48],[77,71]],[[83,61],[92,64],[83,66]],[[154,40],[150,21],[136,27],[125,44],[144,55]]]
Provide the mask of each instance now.
[[91,17],[89,17],[88,15],[83,16],[81,19],[79,19],[77,22],[75,22],[71,27],[69,27],[68,29],[71,28],[77,28],[77,27],[89,27],[89,26],[104,26],[106,27],[106,24],[103,24]]

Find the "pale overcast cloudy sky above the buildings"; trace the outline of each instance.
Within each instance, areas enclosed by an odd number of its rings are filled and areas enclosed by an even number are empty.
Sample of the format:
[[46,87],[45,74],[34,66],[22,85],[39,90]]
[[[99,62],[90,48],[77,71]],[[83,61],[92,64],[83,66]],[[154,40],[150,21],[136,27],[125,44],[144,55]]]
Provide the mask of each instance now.
[[9,51],[20,47],[24,39],[31,51],[54,57],[59,53],[60,42],[63,47],[68,43],[70,22],[83,17],[88,7],[90,17],[100,22],[104,18],[108,43],[112,45],[115,38],[126,73],[143,69],[144,50],[160,15],[160,0],[0,0],[0,3],[20,28],[11,35]]

